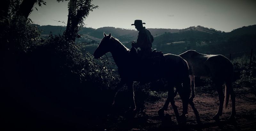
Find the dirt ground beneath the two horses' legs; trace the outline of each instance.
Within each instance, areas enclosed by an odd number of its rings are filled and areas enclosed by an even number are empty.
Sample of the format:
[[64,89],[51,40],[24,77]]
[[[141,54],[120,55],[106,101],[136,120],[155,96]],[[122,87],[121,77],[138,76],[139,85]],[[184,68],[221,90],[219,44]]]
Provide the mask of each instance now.
[[[217,92],[197,93],[194,103],[199,112],[202,125],[198,126],[192,108],[189,106],[189,113],[187,116],[187,124],[179,127],[175,118],[172,106],[169,105],[168,111],[165,111],[164,123],[159,118],[157,111],[164,105],[166,98],[162,98],[156,102],[146,102],[144,104],[144,113],[137,113],[135,117],[130,120],[129,128],[127,130],[256,130],[256,98],[253,94],[239,94],[236,96],[236,122],[228,122],[231,114],[231,101],[228,104],[228,110],[220,117],[220,122],[216,123],[212,117],[217,113],[219,107],[219,98]],[[179,98],[175,98],[175,104],[181,112],[182,103]],[[120,121],[119,121],[120,122]],[[122,123],[122,122],[121,122]],[[127,123],[126,123],[127,124]],[[119,128],[120,124],[112,126],[108,130],[126,130]]]

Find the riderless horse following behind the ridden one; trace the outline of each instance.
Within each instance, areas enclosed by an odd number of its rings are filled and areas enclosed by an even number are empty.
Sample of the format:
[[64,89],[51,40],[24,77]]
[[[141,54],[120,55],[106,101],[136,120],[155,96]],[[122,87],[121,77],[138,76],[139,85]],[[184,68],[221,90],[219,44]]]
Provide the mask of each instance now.
[[[223,103],[225,103],[225,110],[228,107],[229,96],[232,100],[232,113],[229,119],[234,120],[236,115],[235,108],[235,92],[232,88],[233,64],[223,55],[207,55],[196,52],[195,50],[188,50],[179,55],[188,62],[189,74],[192,88],[192,98],[195,97],[195,75],[210,77],[215,83],[220,105],[219,111],[214,115],[214,120],[219,120],[222,115]],[[222,85],[225,82],[225,95],[222,91]],[[225,98],[224,98],[225,97]]]

